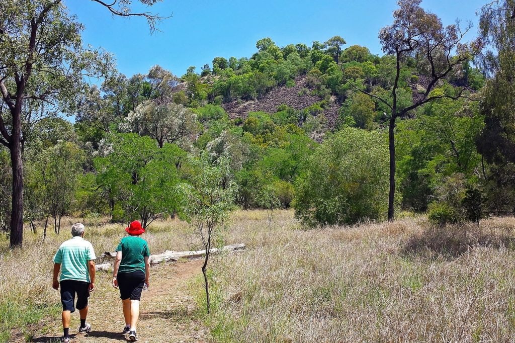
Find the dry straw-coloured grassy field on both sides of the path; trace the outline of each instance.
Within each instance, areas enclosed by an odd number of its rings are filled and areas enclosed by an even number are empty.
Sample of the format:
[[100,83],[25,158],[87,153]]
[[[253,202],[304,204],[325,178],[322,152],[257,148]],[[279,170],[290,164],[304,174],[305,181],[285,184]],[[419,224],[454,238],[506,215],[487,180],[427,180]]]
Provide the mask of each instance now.
[[[30,340],[58,318],[52,257],[71,221],[45,242],[26,233],[23,250],[0,241],[0,341]],[[124,235],[121,225],[83,221],[98,255]],[[156,223],[145,238],[153,253],[195,243],[176,220]],[[277,211],[270,230],[266,212],[236,211],[224,243],[248,249],[213,261],[214,311],[204,321],[219,342],[513,341],[514,239],[514,218],[307,230],[291,211]],[[199,283],[190,289],[200,310]]]

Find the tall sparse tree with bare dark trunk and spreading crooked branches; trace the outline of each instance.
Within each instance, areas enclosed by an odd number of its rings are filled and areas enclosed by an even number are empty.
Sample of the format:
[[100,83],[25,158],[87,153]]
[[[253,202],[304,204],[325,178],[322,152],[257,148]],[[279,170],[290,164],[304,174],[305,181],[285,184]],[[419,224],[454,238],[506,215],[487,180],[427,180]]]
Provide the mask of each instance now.
[[[445,77],[460,68],[471,58],[478,47],[478,42],[467,45],[462,43],[471,24],[461,29],[458,24],[443,26],[436,14],[426,12],[420,7],[422,0],[400,0],[399,9],[393,12],[393,23],[385,26],[379,32],[383,52],[394,58],[394,80],[387,96],[376,95],[358,87],[347,80],[354,88],[376,99],[386,106],[389,132],[389,197],[388,219],[394,217],[394,199],[396,191],[396,160],[395,160],[395,127],[397,118],[406,116],[408,112],[441,98],[458,99],[464,97],[464,90],[459,89],[454,94],[448,92],[433,92],[441,86]],[[453,54],[455,54],[453,56]],[[421,97],[413,104],[399,104],[401,68],[408,59],[415,59],[418,70],[425,74],[429,81],[423,85]]]

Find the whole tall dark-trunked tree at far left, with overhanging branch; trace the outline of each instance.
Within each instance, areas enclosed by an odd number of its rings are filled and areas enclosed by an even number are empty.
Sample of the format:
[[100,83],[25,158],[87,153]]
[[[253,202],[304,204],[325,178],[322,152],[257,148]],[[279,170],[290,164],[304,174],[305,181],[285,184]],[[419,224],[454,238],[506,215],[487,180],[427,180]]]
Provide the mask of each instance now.
[[[162,19],[131,12],[130,0],[92,1],[113,15],[143,16],[151,29]],[[99,77],[112,68],[108,54],[82,47],[81,30],[62,0],[0,2],[0,144],[9,149],[12,168],[11,247],[23,243],[24,127],[35,116],[73,110],[84,75]]]

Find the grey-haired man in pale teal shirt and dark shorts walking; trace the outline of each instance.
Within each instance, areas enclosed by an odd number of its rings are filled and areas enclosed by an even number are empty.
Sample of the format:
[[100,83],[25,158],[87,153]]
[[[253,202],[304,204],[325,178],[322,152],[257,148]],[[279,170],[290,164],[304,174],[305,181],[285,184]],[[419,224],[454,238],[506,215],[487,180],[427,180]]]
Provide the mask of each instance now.
[[[89,332],[91,325],[86,322],[88,315],[88,298],[95,288],[95,251],[84,236],[84,225],[72,226],[72,239],[61,244],[54,256],[54,281],[52,287],[61,286],[61,303],[63,305],[63,342],[70,342],[70,317],[75,307],[80,314],[79,332]],[[61,270],[59,281],[57,276]],[[77,305],[75,303],[77,294]]]

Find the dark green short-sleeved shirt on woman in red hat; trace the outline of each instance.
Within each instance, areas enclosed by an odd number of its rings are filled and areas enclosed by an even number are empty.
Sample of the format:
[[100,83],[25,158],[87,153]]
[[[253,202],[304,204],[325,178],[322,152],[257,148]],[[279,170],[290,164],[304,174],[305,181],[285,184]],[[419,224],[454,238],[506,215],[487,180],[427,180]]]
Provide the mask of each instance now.
[[136,270],[145,272],[145,256],[150,256],[145,239],[138,236],[123,237],[116,251],[122,251],[122,262],[118,272],[130,273]]

